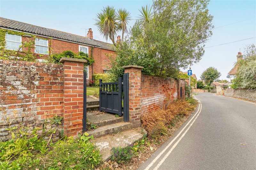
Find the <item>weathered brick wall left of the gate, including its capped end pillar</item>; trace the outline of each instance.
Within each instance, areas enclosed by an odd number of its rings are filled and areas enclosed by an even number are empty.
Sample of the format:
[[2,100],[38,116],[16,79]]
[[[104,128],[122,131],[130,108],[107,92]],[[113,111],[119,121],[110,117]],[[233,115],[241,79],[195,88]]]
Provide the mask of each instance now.
[[[0,60],[0,130],[22,122],[42,127],[60,115],[65,134],[81,133],[84,61],[62,65]],[[0,136],[0,141],[5,139]]]

